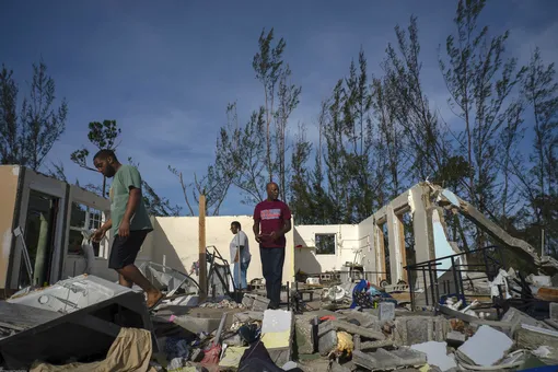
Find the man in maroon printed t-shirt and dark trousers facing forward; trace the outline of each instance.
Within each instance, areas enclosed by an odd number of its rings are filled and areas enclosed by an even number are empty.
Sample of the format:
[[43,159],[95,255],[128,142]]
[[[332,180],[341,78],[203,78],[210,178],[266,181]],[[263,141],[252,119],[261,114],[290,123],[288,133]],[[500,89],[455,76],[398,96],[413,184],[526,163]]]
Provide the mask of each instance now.
[[267,184],[267,199],[254,209],[254,234],[259,243],[261,271],[266,279],[269,309],[279,309],[284,264],[284,234],[291,230],[289,206],[278,199],[279,186]]

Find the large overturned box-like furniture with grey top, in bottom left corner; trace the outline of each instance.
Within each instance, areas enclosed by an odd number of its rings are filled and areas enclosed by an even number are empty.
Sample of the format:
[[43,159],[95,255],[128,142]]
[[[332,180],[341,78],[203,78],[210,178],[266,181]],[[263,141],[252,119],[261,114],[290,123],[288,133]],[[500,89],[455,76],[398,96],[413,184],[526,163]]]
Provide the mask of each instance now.
[[28,369],[36,360],[104,359],[121,327],[152,330],[143,292],[94,276],[16,294],[0,302],[0,327],[13,330],[0,338],[9,369]]

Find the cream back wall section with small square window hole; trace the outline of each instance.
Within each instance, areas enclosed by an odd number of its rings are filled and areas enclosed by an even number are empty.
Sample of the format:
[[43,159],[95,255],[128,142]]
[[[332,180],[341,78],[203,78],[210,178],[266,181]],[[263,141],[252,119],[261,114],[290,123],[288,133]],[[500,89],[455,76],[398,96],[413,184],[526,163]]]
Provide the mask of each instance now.
[[[336,249],[333,255],[316,254],[315,235],[336,234]],[[302,246],[302,247],[297,247]],[[359,226],[340,225],[298,225],[294,226],[294,271],[309,274],[340,270],[346,261],[354,260],[360,247]],[[360,263],[360,259],[358,259]]]

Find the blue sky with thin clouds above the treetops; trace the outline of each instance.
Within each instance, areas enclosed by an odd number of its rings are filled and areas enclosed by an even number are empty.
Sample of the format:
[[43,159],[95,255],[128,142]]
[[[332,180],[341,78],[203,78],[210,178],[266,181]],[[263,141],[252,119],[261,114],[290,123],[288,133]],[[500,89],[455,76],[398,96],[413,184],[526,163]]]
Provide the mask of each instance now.
[[[280,5],[278,5],[280,4]],[[446,91],[438,69],[438,46],[454,31],[456,1],[5,1],[0,12],[0,62],[14,70],[26,91],[31,66],[43,57],[69,106],[67,129],[45,163],[62,161],[70,179],[98,175],[79,168],[70,153],[86,144],[88,123],[116,119],[118,149],[140,163],[143,177],[173,202],[184,205],[171,164],[187,179],[214,156],[225,107],[237,102],[246,120],[263,103],[252,70],[264,27],[284,37],[293,83],[302,85],[292,115],[316,138],[319,102],[346,75],[360,47],[369,71],[380,62],[394,26],[418,16],[425,89],[449,123]],[[488,1],[481,23],[492,33],[511,31],[509,51],[526,62],[535,46],[558,62],[558,2]],[[458,124],[456,124],[458,125]],[[221,214],[251,213],[232,190]]]

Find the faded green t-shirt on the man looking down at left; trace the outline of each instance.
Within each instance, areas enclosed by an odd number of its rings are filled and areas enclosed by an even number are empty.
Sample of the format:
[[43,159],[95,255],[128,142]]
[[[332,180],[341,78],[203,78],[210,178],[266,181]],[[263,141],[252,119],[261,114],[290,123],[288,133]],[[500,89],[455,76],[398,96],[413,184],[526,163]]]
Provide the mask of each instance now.
[[[111,185],[111,219],[113,220],[113,236],[118,234],[118,228],[126,213],[128,198],[130,196],[130,187],[141,189],[141,175],[138,170],[131,165],[120,165],[118,172],[114,175],[113,184]],[[136,212],[130,220],[130,231],[148,230],[152,231],[153,226],[149,220],[148,210],[141,198]]]

